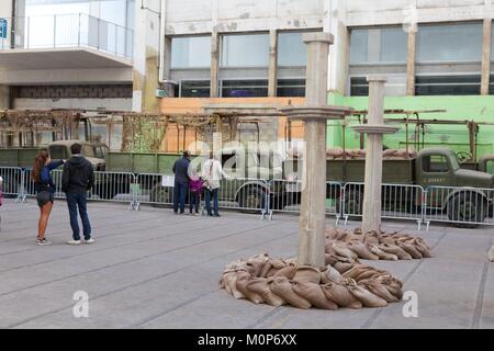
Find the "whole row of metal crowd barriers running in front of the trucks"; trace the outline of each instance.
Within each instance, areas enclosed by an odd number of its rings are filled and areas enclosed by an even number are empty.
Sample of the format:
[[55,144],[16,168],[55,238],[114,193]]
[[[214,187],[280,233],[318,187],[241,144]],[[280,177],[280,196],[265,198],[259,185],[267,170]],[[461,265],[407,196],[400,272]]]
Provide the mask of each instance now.
[[[15,167],[0,168],[2,193],[27,201],[35,196],[32,171]],[[65,199],[61,191],[61,170],[52,171],[55,197]],[[271,218],[273,213],[299,214],[301,210],[301,181],[225,179],[218,189],[218,207],[258,213]],[[363,212],[363,183],[326,183],[326,215],[339,219],[361,218]],[[172,176],[158,173],[94,172],[94,186],[88,193],[91,201],[128,203],[130,210],[141,204],[172,206],[175,197]],[[201,194],[200,211],[205,214],[205,192]],[[494,189],[429,186],[413,184],[382,184],[382,218],[451,223],[463,227],[494,225]],[[190,199],[187,197],[189,206]],[[187,208],[188,211],[189,208]]]

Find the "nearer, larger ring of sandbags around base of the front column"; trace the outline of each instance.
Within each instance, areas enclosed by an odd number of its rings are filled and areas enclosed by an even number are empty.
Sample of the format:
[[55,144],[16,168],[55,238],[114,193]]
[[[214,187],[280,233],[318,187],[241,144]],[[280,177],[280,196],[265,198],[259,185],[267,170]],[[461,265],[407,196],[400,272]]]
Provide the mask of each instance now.
[[403,283],[389,272],[349,258],[332,260],[317,269],[258,254],[227,264],[220,286],[237,299],[303,309],[384,307],[402,298]]

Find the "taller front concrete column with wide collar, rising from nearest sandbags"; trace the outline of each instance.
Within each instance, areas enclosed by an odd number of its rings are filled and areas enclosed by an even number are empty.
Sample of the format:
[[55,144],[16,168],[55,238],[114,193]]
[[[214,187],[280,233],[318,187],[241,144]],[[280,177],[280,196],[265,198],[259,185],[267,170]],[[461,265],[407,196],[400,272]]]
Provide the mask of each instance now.
[[328,54],[333,35],[310,33],[304,35],[304,42],[307,44],[306,106],[281,109],[281,112],[291,118],[305,121],[299,263],[323,267],[326,229],[326,120],[339,120],[351,110],[327,106]]

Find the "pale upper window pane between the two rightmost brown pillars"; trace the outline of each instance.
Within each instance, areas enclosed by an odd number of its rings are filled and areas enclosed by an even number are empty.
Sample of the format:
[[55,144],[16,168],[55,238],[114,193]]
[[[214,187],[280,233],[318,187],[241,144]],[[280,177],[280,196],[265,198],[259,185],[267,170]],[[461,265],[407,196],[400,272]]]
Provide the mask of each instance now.
[[418,26],[417,63],[481,60],[482,23]]

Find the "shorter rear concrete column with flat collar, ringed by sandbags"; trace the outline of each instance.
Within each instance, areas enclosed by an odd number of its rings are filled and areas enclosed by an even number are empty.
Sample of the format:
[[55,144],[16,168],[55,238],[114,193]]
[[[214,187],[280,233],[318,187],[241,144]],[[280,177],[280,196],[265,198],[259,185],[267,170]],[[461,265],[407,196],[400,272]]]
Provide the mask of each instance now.
[[382,136],[398,128],[383,123],[385,77],[372,76],[369,81],[369,120],[367,125],[353,127],[367,133],[366,182],[363,191],[362,230],[381,228]]

